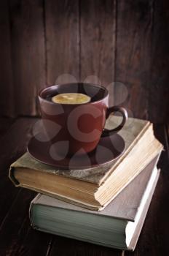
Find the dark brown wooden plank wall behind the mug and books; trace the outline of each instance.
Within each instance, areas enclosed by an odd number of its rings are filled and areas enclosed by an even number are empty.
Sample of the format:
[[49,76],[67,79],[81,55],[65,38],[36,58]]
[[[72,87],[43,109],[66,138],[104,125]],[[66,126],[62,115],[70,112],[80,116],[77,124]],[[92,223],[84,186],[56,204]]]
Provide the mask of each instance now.
[[9,0],[0,6],[0,114],[36,116],[54,83],[107,86],[130,116],[169,116],[167,0]]

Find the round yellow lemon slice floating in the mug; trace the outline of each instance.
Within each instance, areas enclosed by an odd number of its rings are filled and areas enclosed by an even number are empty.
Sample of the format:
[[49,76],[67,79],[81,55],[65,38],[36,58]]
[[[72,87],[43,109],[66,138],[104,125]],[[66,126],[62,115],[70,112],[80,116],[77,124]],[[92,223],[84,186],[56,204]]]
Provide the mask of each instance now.
[[52,97],[52,102],[60,104],[84,104],[90,102],[90,97],[85,94],[67,93]]

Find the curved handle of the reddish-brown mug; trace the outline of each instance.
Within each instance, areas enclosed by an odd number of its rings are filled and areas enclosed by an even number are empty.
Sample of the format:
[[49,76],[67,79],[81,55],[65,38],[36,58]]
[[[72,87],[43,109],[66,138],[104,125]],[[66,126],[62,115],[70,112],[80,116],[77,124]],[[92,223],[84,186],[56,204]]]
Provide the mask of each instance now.
[[114,128],[114,129],[104,128],[101,137],[106,137],[106,136],[109,136],[109,135],[113,135],[114,133],[119,132],[119,130],[122,129],[122,127],[124,127],[125,122],[127,121],[127,118],[128,118],[127,110],[125,110],[125,108],[118,107],[118,106],[108,108],[107,113],[106,113],[106,119],[109,118],[110,114],[114,113],[114,112],[119,112],[119,113],[122,114],[121,124],[119,124],[119,126]]

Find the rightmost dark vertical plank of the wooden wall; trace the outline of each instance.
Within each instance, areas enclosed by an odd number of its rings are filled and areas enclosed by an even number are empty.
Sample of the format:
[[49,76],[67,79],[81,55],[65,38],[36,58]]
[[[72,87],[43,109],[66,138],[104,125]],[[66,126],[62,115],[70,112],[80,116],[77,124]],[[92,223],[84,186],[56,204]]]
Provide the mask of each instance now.
[[154,1],[149,119],[169,123],[169,1]]

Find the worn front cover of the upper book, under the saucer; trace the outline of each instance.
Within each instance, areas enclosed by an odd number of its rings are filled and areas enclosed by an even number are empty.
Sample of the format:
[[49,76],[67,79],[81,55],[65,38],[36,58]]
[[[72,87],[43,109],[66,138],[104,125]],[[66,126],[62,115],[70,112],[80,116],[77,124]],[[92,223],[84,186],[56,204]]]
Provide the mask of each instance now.
[[[114,118],[115,117],[110,117],[107,121],[107,129],[115,126]],[[118,119],[119,118],[116,117],[117,123]],[[117,159],[116,161],[111,162],[107,165],[101,165],[100,167],[94,167],[85,170],[59,170],[50,165],[44,165],[41,162],[33,159],[28,153],[25,153],[23,157],[20,157],[20,159],[17,159],[17,161],[11,165],[11,172],[9,173],[10,178],[12,178],[13,181],[17,183],[17,181],[15,181],[15,177],[12,176],[12,167],[26,167],[30,169],[32,168],[36,170],[41,170],[47,173],[55,173],[57,175],[66,176],[68,178],[77,178],[82,181],[88,181],[94,184],[101,184],[108,176],[111,175],[111,172],[114,170],[114,168],[119,165],[122,159],[125,158],[127,153],[129,153],[129,151],[133,148],[139,138],[141,138],[141,135],[146,132],[146,129],[148,129],[150,125],[151,124],[149,123],[149,121],[137,118],[128,118],[125,127],[123,127],[121,131],[119,131],[119,135],[122,135],[122,138],[124,138],[125,140],[125,154],[119,157],[119,159]]]

